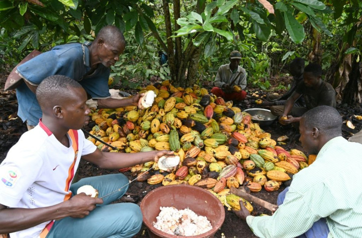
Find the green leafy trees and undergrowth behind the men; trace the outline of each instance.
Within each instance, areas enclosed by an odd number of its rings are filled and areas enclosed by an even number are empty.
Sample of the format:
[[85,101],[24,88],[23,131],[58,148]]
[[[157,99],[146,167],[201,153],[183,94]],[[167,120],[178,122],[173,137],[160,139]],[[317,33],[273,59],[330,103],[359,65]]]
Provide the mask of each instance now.
[[239,50],[253,86],[268,90],[271,76],[302,57],[322,65],[337,99],[353,106],[362,92],[361,13],[359,0],[0,0],[0,67],[115,25],[127,42],[115,83],[138,88],[156,76],[200,85]]

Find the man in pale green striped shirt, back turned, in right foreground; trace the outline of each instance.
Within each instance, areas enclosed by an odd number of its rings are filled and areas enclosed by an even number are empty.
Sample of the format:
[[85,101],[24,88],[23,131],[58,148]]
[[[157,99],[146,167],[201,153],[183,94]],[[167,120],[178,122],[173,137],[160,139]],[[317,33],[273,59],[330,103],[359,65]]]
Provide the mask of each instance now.
[[344,139],[341,126],[332,106],[317,106],[302,116],[300,141],[317,158],[279,194],[279,208],[272,216],[251,216],[241,203],[236,214],[256,236],[362,237],[362,145]]

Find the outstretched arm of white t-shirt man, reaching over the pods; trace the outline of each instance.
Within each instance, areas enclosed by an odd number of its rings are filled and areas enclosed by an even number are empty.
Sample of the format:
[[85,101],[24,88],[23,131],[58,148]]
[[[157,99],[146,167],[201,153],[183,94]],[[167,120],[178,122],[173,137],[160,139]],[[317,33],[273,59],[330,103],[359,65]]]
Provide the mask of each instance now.
[[109,153],[96,149],[93,153],[82,156],[82,159],[103,169],[120,169],[149,161],[157,162],[160,157],[173,155],[173,153],[167,150],[139,153]]

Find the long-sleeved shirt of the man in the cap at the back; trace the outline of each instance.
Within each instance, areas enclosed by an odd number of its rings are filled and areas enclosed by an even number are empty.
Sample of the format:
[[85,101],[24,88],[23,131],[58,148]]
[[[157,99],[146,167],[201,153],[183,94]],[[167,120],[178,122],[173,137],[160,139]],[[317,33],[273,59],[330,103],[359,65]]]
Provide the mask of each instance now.
[[230,69],[230,64],[224,64],[221,65],[219,70],[217,71],[215,77],[215,86],[222,88],[225,83],[228,83],[230,85],[231,82],[234,81],[236,77],[238,77],[230,86],[239,85],[241,89],[244,89],[246,87],[246,76],[247,73],[245,69],[241,68],[241,66],[238,66],[238,70],[233,72]]

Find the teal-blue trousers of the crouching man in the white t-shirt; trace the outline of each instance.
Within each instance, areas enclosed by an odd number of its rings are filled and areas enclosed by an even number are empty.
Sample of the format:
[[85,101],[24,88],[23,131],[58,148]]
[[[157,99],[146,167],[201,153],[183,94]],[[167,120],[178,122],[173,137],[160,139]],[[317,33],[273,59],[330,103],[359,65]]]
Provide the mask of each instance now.
[[[98,189],[99,197],[128,184],[123,174],[108,174],[81,179],[70,186],[73,194],[83,185],[92,185]],[[47,238],[130,238],[136,235],[142,226],[142,213],[133,203],[110,204],[120,199],[127,191],[128,185],[103,199],[103,204],[84,218],[65,217],[55,221]]]

